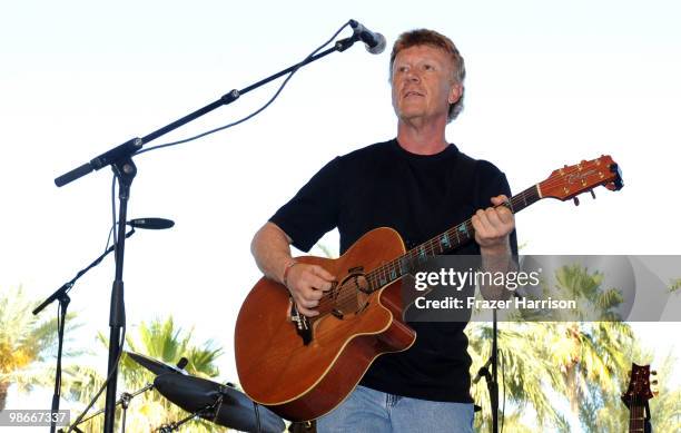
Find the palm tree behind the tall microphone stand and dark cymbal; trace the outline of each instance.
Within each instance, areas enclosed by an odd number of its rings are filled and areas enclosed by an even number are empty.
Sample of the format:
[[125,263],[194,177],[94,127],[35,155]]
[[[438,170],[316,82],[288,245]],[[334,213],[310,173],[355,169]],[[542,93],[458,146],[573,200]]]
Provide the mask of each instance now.
[[[103,336],[99,336],[102,345],[107,345]],[[216,360],[221,348],[216,347],[211,341],[200,344],[193,343],[193,331],[185,332],[175,325],[172,317],[154,319],[141,323],[132,335],[126,337],[130,351],[145,354],[155,360],[175,365],[180,357],[187,357],[189,363],[185,370],[195,376],[213,378],[219,374]],[[92,368],[73,366],[69,370],[71,385],[70,393],[80,402],[89,402],[96,390],[101,386],[103,378]],[[154,383],[154,373],[145,370],[132,358],[124,356],[120,363],[120,391],[132,393]],[[167,401],[156,391],[147,391],[136,396],[128,409],[126,429],[129,431],[152,431],[162,424],[179,421],[189,414]],[[102,429],[101,416],[89,421],[83,431],[97,432]],[[186,432],[215,432],[219,431],[215,424],[203,420],[190,421],[180,431]]]

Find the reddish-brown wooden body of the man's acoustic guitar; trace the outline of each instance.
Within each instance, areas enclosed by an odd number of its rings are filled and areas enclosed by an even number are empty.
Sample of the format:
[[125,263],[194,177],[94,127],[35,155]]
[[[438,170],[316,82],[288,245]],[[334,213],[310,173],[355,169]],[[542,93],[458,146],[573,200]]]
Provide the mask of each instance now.
[[[397,232],[382,227],[337,259],[307,256],[297,260],[319,265],[338,282],[352,283],[404,253]],[[313,319],[312,339],[306,344],[292,321],[288,289],[261,278],[246,297],[235,329],[236,365],[246,394],[292,421],[332,411],[377,356],[414,344],[416,333],[403,322],[401,283],[397,279],[371,294],[347,293],[352,284],[345,284],[342,315]]]

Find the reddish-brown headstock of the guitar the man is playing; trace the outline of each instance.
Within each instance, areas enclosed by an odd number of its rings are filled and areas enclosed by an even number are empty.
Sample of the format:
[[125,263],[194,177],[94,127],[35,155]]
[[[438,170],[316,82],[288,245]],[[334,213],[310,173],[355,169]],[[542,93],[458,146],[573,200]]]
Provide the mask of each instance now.
[[[539,187],[542,197],[568,200],[600,185],[613,191],[624,186],[620,167],[610,155],[553,170],[546,180],[539,184]],[[579,204],[576,198],[575,204]]]

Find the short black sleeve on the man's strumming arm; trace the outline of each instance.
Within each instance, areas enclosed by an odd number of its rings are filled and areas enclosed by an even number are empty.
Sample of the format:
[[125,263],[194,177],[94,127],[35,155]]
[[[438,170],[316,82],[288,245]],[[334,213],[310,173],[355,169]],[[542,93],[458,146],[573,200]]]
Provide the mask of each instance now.
[[324,166],[300,190],[269,218],[292,239],[293,245],[308,252],[327,232],[338,225],[340,209],[342,158]]

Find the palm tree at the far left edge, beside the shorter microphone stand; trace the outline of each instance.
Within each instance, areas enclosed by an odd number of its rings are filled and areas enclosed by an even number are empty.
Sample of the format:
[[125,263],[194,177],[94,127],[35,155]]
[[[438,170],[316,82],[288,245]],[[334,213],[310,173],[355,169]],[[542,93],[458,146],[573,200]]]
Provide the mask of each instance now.
[[[33,307],[21,286],[0,293],[0,411],[10,385],[26,392],[52,381],[47,360],[57,352],[57,318],[39,318],[31,314]],[[68,328],[73,316],[67,315]]]

